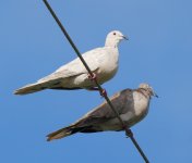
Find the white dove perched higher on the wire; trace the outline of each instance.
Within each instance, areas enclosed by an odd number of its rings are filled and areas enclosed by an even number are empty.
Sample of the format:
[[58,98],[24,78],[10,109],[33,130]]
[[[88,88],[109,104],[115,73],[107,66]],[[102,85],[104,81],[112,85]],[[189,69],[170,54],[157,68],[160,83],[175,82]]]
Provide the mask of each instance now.
[[[128,39],[121,32],[112,30],[106,37],[105,46],[89,50],[82,54],[98,84],[111,79],[118,71],[119,50],[121,40]],[[79,58],[62,65],[50,75],[40,78],[34,84],[28,84],[14,91],[15,95],[27,95],[45,89],[95,90],[96,84]]]

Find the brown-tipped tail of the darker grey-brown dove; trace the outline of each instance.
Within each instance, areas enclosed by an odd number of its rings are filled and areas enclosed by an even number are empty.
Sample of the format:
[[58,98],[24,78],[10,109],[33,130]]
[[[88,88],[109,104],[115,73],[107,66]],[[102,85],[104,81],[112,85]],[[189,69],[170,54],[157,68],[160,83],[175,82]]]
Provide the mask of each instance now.
[[53,139],[61,139],[61,138],[64,138],[67,136],[70,136],[70,135],[73,135],[75,133],[79,133],[81,131],[82,128],[76,128],[74,125],[71,125],[69,127],[65,127],[65,128],[61,128],[59,130],[56,130],[49,135],[47,135],[47,141],[51,141]]

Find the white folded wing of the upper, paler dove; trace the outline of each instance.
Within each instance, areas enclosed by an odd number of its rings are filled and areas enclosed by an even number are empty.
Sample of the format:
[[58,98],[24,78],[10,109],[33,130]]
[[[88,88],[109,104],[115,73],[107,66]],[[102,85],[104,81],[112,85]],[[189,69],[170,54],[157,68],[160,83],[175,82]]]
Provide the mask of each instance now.
[[[99,68],[99,63],[103,57],[106,54],[105,48],[97,48],[91,51],[85,52],[82,54],[85,62],[89,66],[92,72],[95,72]],[[55,80],[60,78],[67,78],[72,76],[77,76],[81,74],[87,74],[87,70],[83,65],[82,61],[77,58],[68,64],[59,67],[55,73],[39,79],[38,82],[47,82],[47,80]]]

